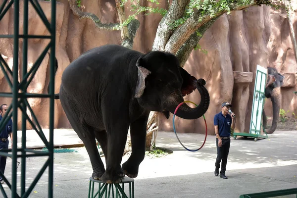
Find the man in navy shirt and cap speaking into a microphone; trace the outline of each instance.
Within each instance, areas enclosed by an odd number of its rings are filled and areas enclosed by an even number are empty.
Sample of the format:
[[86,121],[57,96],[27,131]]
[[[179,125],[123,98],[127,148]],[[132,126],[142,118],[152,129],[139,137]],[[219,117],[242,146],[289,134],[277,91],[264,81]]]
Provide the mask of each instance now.
[[217,147],[214,175],[219,175],[220,163],[222,161],[220,177],[223,179],[228,179],[225,171],[230,148],[231,128],[235,128],[235,114],[233,112],[231,115],[228,113],[231,106],[229,102],[223,102],[222,111],[216,114],[213,119]]

